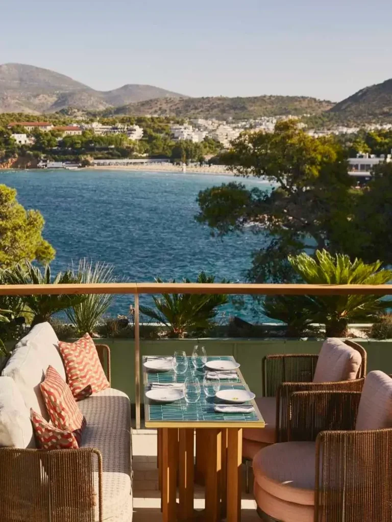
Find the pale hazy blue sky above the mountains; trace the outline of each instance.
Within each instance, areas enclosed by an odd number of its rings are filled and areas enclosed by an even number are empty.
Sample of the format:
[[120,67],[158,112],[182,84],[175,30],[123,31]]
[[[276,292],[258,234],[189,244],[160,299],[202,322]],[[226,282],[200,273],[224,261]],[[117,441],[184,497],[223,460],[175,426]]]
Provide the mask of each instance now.
[[0,0],[0,63],[100,90],[339,101],[392,77],[391,0]]

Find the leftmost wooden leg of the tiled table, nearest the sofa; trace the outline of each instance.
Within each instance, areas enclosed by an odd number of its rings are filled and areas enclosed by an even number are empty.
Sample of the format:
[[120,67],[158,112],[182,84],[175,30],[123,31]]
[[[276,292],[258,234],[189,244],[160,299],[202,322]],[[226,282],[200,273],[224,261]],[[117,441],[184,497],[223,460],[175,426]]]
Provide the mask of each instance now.
[[177,520],[178,429],[162,428],[162,520]]

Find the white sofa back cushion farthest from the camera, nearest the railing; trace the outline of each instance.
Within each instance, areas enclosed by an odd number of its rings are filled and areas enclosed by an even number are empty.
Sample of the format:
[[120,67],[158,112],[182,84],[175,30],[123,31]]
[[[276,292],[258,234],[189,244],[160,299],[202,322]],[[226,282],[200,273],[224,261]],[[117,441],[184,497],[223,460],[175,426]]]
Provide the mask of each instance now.
[[44,373],[52,366],[65,381],[65,369],[59,352],[59,339],[49,323],[39,323],[17,343],[16,348],[33,344],[42,361]]

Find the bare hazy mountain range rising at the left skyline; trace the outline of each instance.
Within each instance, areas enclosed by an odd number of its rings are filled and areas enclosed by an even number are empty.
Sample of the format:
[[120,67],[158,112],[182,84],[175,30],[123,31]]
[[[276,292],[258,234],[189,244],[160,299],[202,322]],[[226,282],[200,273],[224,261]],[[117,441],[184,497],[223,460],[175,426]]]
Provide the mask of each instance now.
[[151,85],[124,85],[97,91],[63,74],[24,64],[0,65],[0,112],[56,112],[75,109],[100,111],[153,98],[181,97]]

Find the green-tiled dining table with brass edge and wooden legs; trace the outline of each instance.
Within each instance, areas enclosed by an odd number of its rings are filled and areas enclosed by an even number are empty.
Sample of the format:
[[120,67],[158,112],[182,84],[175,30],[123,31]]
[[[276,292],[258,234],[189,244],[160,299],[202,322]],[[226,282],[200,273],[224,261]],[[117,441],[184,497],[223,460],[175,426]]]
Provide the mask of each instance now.
[[[188,404],[183,396],[166,403],[144,397],[145,427],[154,428],[158,433],[157,462],[163,521],[182,522],[200,517],[208,522],[223,518],[227,522],[238,522],[241,518],[242,430],[264,428],[256,401],[251,399],[234,412],[216,411],[216,406],[222,402],[203,392],[205,367],[193,367],[189,357],[187,370],[181,375],[175,374],[174,370],[147,370],[144,364],[153,359],[158,358],[148,355],[143,358],[145,393],[161,386],[165,389],[166,385],[173,383],[178,387],[187,377],[198,377],[201,386],[200,398],[192,404]],[[207,357],[207,363],[216,360],[235,362],[229,355]],[[221,377],[221,390],[250,391],[239,368],[230,378],[223,378],[223,374]],[[205,489],[202,512],[194,510],[197,478],[202,480]]]

